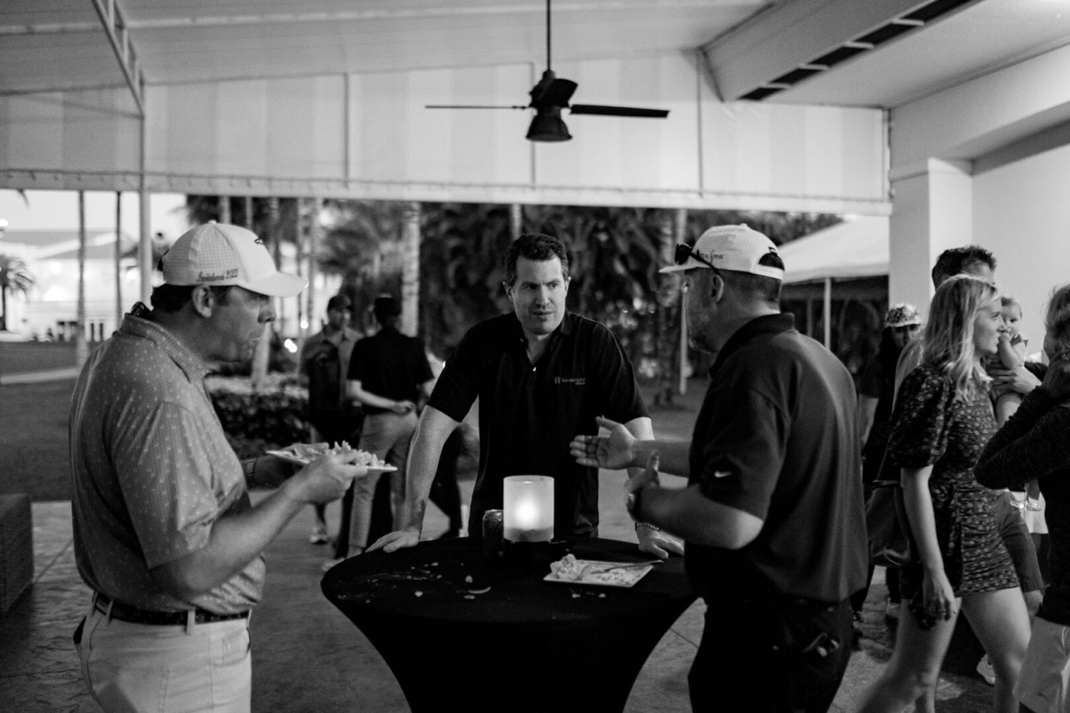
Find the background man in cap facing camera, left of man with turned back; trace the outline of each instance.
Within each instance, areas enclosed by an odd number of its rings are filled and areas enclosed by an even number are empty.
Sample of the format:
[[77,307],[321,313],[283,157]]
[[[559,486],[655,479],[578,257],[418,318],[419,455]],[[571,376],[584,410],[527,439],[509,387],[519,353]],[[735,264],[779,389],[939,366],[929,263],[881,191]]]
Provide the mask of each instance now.
[[[308,387],[308,424],[312,443],[326,441],[334,446],[342,441],[356,443],[361,432],[361,409],[354,407],[346,390],[346,374],[353,345],[361,338],[349,327],[349,297],[335,295],[327,300],[323,328],[301,347],[299,379]],[[349,509],[353,503],[352,489],[341,501],[341,524],[335,542],[335,557],[345,557],[349,549]],[[316,524],[310,541],[327,541],[326,506],[317,505]]]

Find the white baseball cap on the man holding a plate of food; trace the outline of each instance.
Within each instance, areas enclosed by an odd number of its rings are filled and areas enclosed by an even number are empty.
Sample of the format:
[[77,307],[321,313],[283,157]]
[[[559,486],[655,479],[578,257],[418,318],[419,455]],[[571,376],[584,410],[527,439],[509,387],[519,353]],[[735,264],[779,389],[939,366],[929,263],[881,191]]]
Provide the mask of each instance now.
[[279,273],[263,242],[253,231],[209,222],[183,233],[160,259],[164,282],[174,285],[236,284],[272,297],[293,297],[308,284]]

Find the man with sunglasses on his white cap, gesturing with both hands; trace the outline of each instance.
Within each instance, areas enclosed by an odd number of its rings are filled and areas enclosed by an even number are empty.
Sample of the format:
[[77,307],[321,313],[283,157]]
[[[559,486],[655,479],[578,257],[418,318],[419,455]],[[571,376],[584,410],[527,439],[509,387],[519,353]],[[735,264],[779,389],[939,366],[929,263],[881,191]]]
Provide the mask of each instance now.
[[[706,600],[688,682],[694,711],[826,711],[851,649],[847,598],[866,583],[851,374],[780,314],[783,263],[746,226],[677,249],[687,325],[716,354],[690,444],[579,436],[580,463],[646,463],[628,481],[632,517],[684,538]],[[666,272],[666,270],[662,270]],[[687,472],[661,489],[657,468]]]

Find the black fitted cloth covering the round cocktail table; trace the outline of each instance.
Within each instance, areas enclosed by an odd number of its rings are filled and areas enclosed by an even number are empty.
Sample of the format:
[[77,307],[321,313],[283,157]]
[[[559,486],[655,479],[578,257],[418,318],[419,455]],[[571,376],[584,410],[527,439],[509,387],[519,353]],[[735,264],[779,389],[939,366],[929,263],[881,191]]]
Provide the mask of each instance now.
[[[580,539],[579,559],[649,559]],[[624,709],[643,663],[694,601],[682,558],[631,588],[544,582],[549,564],[488,560],[469,538],[337,564],[324,595],[379,650],[414,713]]]

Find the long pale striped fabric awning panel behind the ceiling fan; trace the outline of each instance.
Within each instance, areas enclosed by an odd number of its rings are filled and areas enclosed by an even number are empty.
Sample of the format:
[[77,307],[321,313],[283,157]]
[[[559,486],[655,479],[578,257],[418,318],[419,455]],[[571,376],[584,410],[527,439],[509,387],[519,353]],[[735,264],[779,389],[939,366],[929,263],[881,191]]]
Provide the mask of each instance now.
[[[671,113],[565,111],[576,138],[556,144],[524,140],[529,110],[425,108],[522,103],[536,73],[529,64],[150,87],[149,170],[171,176],[172,189],[231,195],[271,186],[417,200],[483,191],[520,202],[886,210],[881,111],[723,105],[708,89],[700,107],[697,65],[678,53],[563,63],[580,103]],[[287,182],[292,190],[280,187]]]

